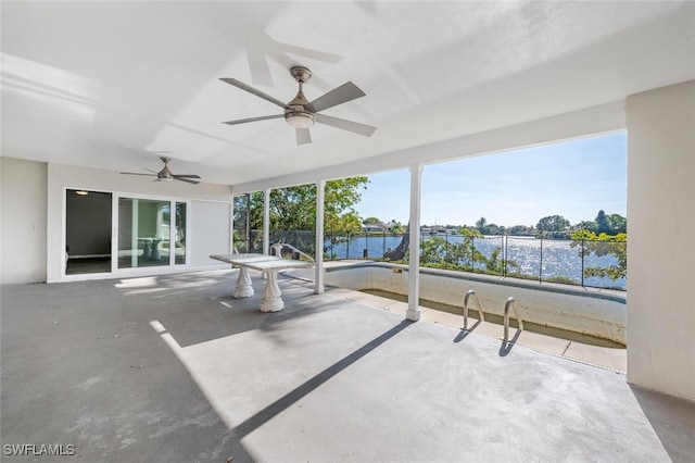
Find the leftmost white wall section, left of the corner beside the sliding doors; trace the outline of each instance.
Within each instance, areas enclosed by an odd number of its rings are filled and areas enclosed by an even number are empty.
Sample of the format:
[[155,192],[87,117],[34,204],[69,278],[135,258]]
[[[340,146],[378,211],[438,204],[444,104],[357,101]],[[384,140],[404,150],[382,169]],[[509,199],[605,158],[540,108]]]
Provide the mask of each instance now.
[[2,283],[46,281],[47,164],[0,158]]

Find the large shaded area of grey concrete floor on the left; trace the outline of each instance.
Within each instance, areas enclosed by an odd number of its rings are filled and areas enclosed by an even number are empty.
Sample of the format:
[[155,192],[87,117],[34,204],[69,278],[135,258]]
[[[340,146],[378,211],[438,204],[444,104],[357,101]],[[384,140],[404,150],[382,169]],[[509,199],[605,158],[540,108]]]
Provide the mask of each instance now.
[[113,280],[3,285],[2,442],[73,445],[66,461],[257,460],[149,324],[190,299],[152,293],[127,298]]

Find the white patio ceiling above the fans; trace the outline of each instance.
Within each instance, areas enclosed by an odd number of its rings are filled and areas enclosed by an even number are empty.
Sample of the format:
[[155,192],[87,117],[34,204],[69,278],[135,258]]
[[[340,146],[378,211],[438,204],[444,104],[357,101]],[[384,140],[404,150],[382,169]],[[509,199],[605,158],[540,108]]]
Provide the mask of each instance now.
[[[2,1],[2,155],[235,185],[564,114],[695,78],[695,2]],[[367,96],[298,147],[281,101]]]

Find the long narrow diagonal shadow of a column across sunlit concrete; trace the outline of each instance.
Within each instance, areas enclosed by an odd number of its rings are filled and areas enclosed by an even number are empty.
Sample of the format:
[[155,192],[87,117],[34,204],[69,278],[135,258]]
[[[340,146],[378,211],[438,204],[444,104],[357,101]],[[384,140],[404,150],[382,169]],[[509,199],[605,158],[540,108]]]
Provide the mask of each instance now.
[[395,335],[397,335],[399,333],[401,333],[402,330],[410,326],[413,323],[415,322],[410,322],[407,320],[402,321],[393,328],[376,337],[375,339],[367,342],[366,345],[364,345],[363,347],[361,347],[350,355],[336,362],[328,368],[324,370],[321,373],[308,379],[303,385],[299,386],[298,388],[288,392],[287,395],[276,400],[265,409],[261,410],[255,415],[251,416],[250,418],[248,418],[247,421],[244,421],[233,429],[236,439],[243,439],[245,436],[253,433],[263,424],[267,423],[278,414],[282,413],[282,411],[292,406],[293,403],[298,402],[299,400],[301,400],[302,398],[304,398],[305,396],[314,391],[324,383],[326,383],[327,380],[329,380],[330,378],[332,378],[333,376],[336,376],[337,374],[339,374],[340,372],[342,372],[343,370],[345,370],[346,367],[349,367],[359,359],[364,358],[369,352],[374,351],[383,342],[393,338]]

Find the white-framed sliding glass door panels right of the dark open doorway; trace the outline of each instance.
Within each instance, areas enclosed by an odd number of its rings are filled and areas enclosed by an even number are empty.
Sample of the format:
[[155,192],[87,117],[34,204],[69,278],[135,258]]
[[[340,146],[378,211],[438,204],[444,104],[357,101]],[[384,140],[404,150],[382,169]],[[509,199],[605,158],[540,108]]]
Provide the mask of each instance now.
[[118,268],[186,264],[186,202],[118,198]]

